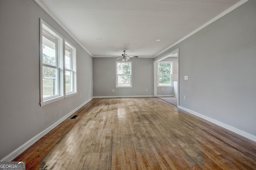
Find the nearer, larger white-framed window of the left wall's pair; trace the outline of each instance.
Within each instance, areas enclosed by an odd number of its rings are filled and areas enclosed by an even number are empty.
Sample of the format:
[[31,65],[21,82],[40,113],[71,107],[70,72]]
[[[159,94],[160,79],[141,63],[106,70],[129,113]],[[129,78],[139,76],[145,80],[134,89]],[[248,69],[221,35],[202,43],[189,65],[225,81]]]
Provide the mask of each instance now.
[[63,37],[41,22],[40,105],[63,97]]

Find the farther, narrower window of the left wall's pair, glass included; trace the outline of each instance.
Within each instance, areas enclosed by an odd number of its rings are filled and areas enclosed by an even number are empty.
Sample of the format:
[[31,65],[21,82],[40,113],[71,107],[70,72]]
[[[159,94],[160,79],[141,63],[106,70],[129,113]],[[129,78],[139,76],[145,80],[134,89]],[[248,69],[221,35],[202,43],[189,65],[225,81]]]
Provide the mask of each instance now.
[[76,92],[76,48],[65,41],[65,95]]

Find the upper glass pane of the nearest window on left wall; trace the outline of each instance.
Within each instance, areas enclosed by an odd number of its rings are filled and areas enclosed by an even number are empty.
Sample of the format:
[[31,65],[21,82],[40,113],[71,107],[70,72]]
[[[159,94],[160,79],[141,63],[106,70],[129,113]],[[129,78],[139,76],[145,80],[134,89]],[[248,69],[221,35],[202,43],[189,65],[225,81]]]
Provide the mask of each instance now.
[[55,39],[43,33],[43,63],[56,66],[56,45]]

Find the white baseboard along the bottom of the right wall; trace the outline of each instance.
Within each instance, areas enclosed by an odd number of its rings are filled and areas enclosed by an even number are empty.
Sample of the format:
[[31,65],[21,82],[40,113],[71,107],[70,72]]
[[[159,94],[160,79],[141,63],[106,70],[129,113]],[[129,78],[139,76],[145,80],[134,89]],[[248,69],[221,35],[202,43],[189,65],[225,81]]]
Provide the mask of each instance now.
[[210,122],[212,122],[212,123],[214,123],[214,124],[216,124],[216,125],[219,125],[219,126],[225,128],[225,129],[228,129],[228,130],[230,130],[230,131],[232,131],[232,132],[234,132],[234,133],[236,133],[236,134],[238,134],[238,135],[241,135],[241,136],[243,136],[243,137],[246,137],[247,139],[250,139],[250,140],[256,142],[256,136],[254,136],[254,135],[252,135],[252,134],[250,134],[250,133],[247,133],[247,132],[245,132],[245,131],[242,131],[242,130],[240,130],[240,129],[237,129],[237,128],[235,128],[235,127],[232,127],[232,126],[230,126],[230,125],[227,125],[227,124],[225,124],[225,123],[222,123],[222,122],[220,122],[220,121],[218,121],[218,120],[216,120],[216,119],[212,119],[212,118],[210,118],[210,117],[207,117],[207,116],[205,116],[205,115],[202,115],[202,114],[200,114],[200,113],[197,113],[197,112],[195,112],[195,111],[192,111],[192,110],[190,110],[190,109],[186,109],[185,107],[178,106],[178,108],[179,108],[179,109],[182,109],[182,110],[184,110],[184,111],[187,111],[188,113],[191,113],[192,115],[196,115],[196,116],[198,116],[198,117],[201,117],[202,119],[205,119],[205,120],[207,120],[207,121],[210,121]]

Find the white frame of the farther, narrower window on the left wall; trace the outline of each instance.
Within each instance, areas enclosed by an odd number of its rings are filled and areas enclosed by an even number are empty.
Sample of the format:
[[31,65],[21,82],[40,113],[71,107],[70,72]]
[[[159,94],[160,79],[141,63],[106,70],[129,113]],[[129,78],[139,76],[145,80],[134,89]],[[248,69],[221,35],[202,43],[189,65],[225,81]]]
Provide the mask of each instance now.
[[[68,40],[65,39],[65,48],[70,49],[70,69],[66,68],[65,64],[65,58],[66,54],[64,52],[64,94],[65,98],[76,95],[76,47],[72,45]],[[70,83],[70,86],[72,86],[73,90],[71,92],[66,92],[66,71],[70,71],[72,73],[72,83]]]

